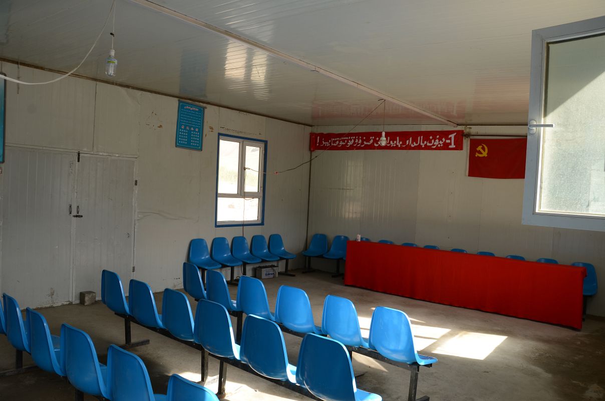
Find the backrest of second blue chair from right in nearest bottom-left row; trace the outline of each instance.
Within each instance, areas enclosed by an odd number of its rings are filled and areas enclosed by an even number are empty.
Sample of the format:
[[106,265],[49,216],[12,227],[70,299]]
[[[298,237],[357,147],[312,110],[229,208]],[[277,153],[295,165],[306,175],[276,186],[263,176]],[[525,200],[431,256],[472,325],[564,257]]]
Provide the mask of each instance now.
[[111,401],[155,401],[147,368],[138,356],[112,344],[107,369]]

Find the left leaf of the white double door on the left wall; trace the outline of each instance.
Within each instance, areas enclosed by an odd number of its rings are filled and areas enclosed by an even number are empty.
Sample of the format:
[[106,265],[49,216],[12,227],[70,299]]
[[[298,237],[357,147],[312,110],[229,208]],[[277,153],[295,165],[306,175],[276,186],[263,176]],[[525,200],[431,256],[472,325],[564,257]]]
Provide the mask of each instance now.
[[2,165],[2,288],[22,308],[71,300],[75,154],[7,147]]

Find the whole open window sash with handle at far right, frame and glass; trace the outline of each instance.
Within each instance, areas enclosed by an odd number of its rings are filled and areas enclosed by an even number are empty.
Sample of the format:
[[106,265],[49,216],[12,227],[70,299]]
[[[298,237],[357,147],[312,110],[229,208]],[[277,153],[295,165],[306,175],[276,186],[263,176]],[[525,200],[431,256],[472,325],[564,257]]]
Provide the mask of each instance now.
[[532,34],[523,222],[605,231],[605,17]]

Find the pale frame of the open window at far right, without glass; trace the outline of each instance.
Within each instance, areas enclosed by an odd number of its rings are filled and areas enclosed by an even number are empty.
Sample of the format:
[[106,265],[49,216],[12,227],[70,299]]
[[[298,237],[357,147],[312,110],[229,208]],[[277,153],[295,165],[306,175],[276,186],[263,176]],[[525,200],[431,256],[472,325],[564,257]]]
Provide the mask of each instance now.
[[[605,33],[605,17],[532,31],[528,125],[531,121],[535,121],[535,124],[543,124],[547,64],[546,46],[551,42],[578,39],[602,33]],[[538,211],[542,135],[545,130],[548,133],[548,129],[538,127],[534,131],[528,127],[525,190],[523,191],[523,224],[605,231],[605,217]]]

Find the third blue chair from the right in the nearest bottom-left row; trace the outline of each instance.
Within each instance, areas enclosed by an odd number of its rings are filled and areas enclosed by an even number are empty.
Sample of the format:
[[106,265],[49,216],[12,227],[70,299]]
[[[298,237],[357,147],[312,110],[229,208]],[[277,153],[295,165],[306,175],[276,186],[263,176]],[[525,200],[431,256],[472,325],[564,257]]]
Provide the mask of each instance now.
[[107,366],[99,363],[93,341],[73,326],[61,325],[61,350],[67,379],[82,393],[111,400],[107,388]]

